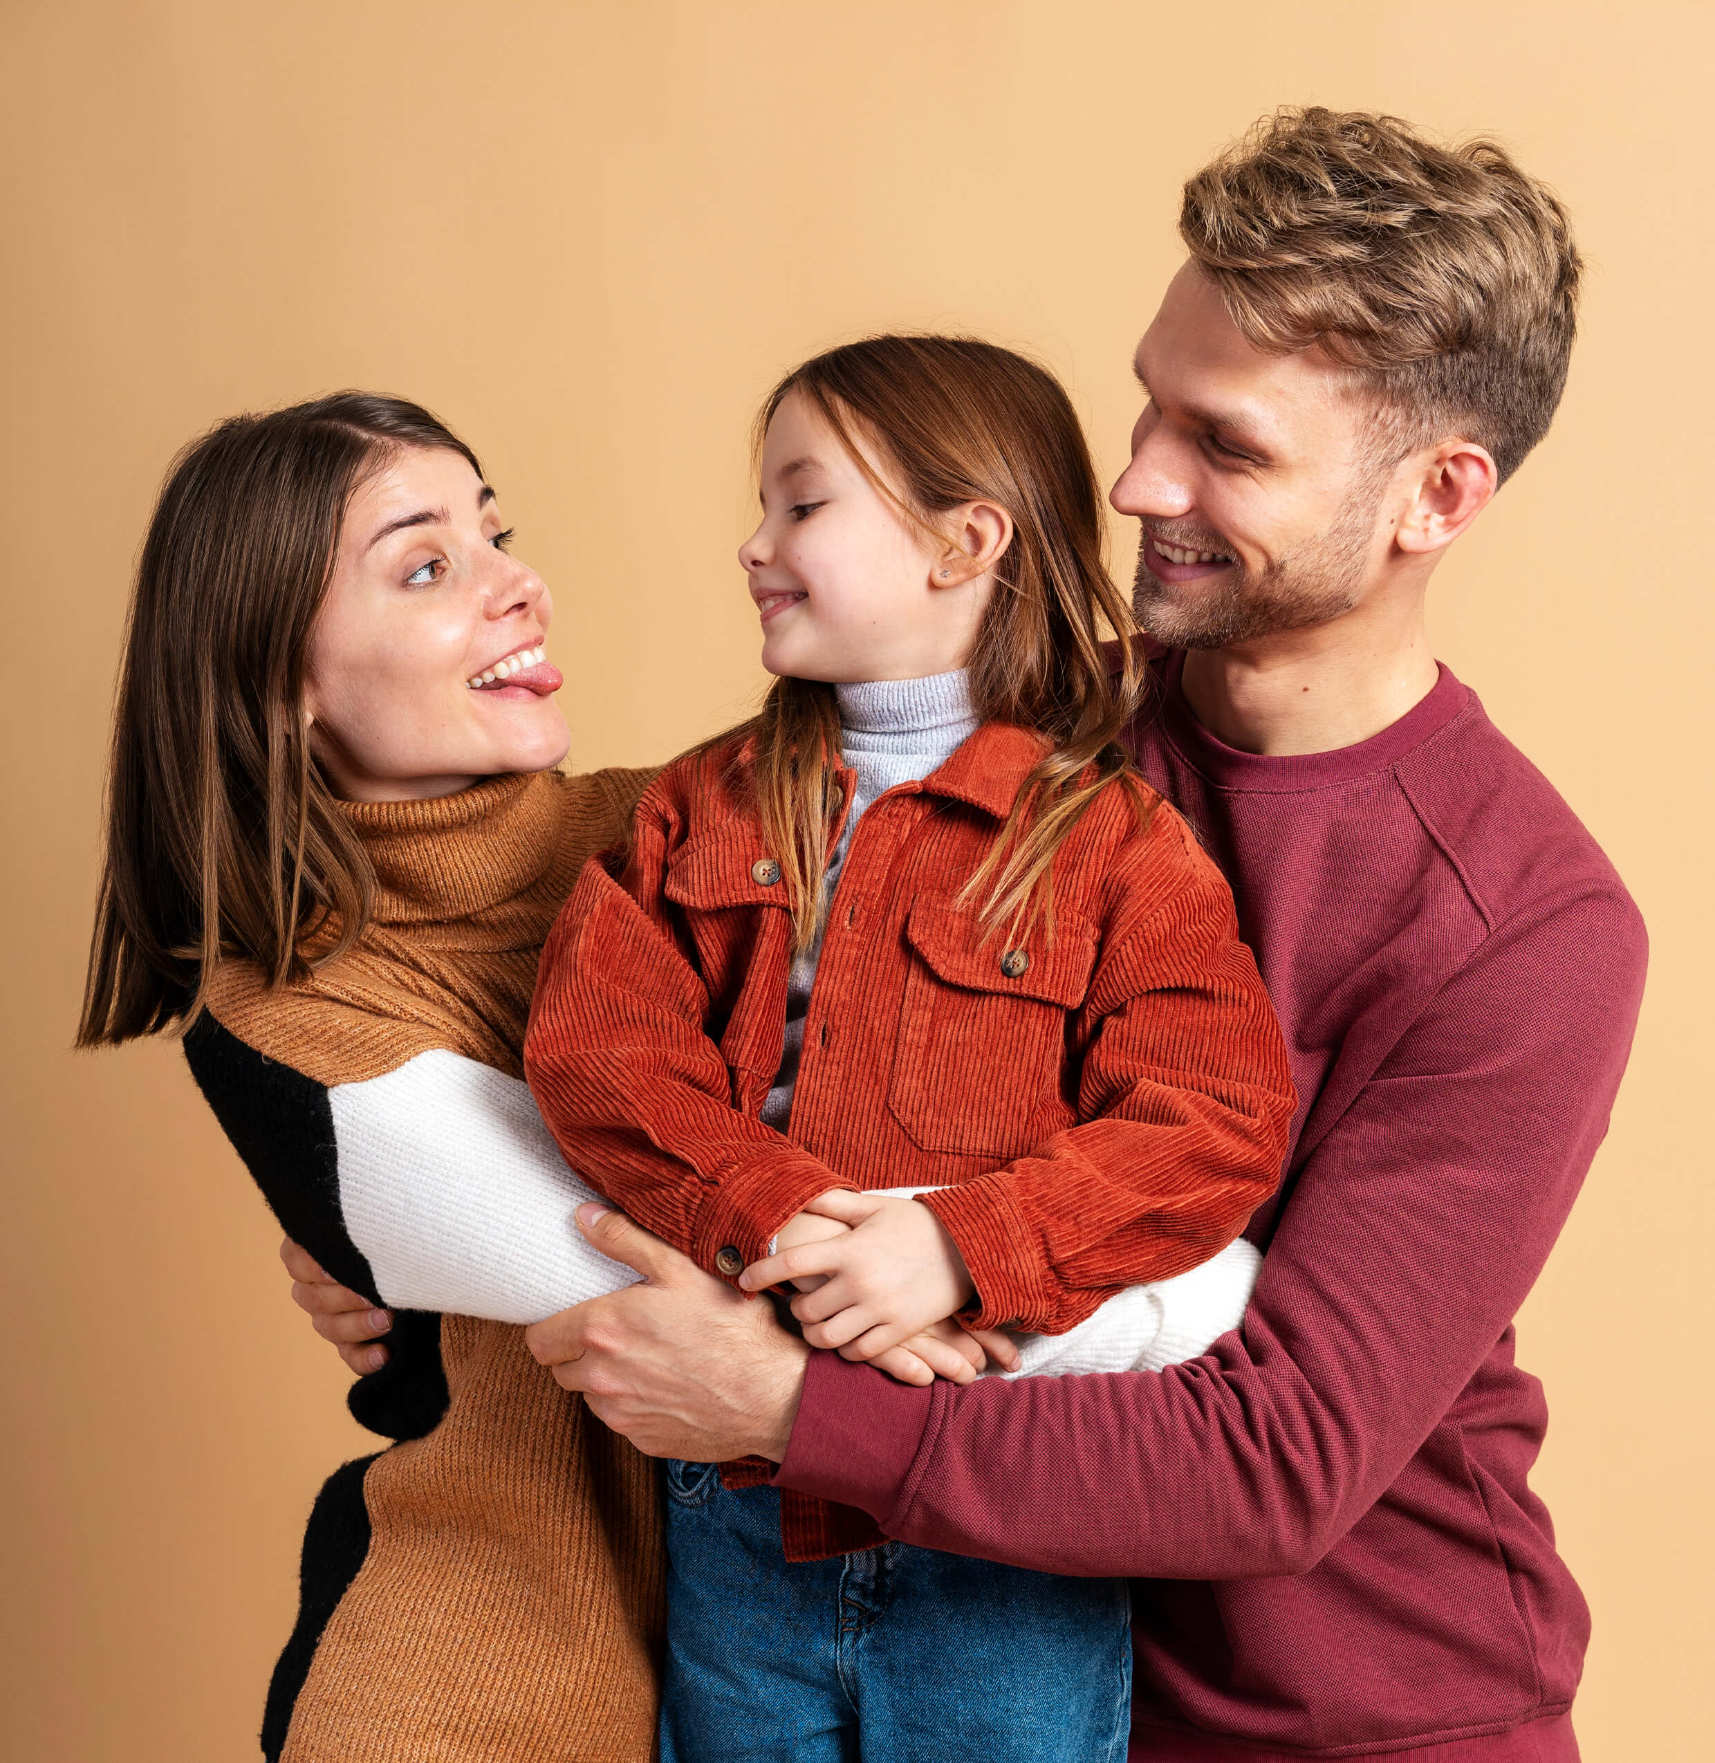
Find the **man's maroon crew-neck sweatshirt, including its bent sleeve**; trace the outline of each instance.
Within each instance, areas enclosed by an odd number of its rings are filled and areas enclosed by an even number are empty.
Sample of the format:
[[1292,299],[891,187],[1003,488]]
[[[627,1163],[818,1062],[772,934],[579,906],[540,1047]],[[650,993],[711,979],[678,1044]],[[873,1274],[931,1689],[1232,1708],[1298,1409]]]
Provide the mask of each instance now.
[[776,1481],[906,1543],[1133,1585],[1132,1756],[1569,1763],[1590,1617],[1512,1317],[1625,1068],[1644,929],[1442,668],[1355,748],[1237,753],[1162,665],[1299,1112],[1241,1331],[1162,1375],[895,1384],[818,1352]]

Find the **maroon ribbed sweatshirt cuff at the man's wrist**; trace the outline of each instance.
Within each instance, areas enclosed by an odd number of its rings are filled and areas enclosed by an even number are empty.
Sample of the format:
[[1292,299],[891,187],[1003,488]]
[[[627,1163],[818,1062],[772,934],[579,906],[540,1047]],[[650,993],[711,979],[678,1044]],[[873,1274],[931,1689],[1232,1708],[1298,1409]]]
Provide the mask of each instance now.
[[813,1352],[774,1486],[855,1506],[885,1525],[904,1499],[932,1403],[934,1386]]

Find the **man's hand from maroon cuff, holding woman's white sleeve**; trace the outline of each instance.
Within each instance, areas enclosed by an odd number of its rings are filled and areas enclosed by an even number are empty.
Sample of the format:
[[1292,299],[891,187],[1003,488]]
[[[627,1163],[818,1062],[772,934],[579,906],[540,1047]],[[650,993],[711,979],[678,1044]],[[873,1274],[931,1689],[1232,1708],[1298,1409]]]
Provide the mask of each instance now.
[[585,1202],[578,1229],[643,1275],[525,1329],[564,1389],[649,1456],[723,1463],[786,1454],[809,1349],[765,1303],[703,1273],[624,1213]]

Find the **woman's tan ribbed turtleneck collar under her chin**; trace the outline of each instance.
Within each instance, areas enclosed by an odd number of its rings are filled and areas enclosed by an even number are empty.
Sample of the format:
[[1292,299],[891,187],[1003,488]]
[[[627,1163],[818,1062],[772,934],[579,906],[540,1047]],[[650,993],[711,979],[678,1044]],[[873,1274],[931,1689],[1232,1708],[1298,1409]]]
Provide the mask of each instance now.
[[557,772],[486,777],[416,802],[340,802],[375,871],[375,924],[467,919],[546,874],[564,829]]

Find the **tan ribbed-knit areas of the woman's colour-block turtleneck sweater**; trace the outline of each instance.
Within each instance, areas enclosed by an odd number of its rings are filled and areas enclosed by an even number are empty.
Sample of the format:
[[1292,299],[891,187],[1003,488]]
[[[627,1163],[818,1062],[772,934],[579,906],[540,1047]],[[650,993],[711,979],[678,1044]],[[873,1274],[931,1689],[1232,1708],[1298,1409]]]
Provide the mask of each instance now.
[[[328,1084],[428,1047],[516,1074],[543,934],[645,781],[543,774],[347,806],[374,924],[287,993],[227,964],[215,1015]],[[663,1620],[654,1465],[561,1391],[520,1329],[448,1317],[441,1350],[448,1414],[365,1476],[370,1548],[286,1763],[642,1763]]]

